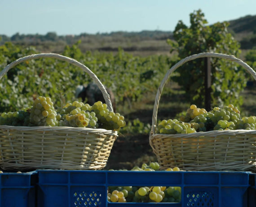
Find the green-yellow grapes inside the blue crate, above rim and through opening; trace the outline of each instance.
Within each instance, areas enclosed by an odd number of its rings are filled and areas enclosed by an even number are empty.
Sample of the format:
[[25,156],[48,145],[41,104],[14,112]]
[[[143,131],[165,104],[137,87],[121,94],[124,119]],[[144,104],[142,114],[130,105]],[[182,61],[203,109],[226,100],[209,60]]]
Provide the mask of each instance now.
[[[157,171],[159,164],[151,162],[149,165],[136,166],[132,171]],[[180,171],[178,167],[168,168],[166,171]],[[179,203],[181,201],[181,187],[179,186],[109,186],[107,199],[109,202],[134,203]]]

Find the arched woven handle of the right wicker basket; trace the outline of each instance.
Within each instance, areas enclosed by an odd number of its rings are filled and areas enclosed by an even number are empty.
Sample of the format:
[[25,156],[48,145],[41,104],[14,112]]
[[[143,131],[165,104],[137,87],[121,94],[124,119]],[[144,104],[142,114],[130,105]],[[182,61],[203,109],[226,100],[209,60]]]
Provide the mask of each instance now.
[[247,71],[253,76],[253,78],[256,80],[256,73],[255,71],[246,63],[244,63],[242,60],[236,58],[235,56],[231,56],[231,55],[225,55],[225,54],[220,54],[220,53],[214,53],[214,52],[203,52],[203,53],[199,53],[197,55],[192,55],[192,56],[188,56],[182,60],[180,60],[179,62],[177,62],[175,65],[172,66],[172,68],[170,68],[167,73],[165,74],[155,97],[155,101],[154,101],[154,110],[153,110],[153,117],[152,117],[152,127],[151,127],[151,132],[150,134],[155,134],[156,132],[156,121],[157,121],[157,111],[158,111],[158,106],[159,106],[159,100],[160,100],[160,96],[161,93],[163,91],[163,86],[165,85],[165,83],[167,82],[168,78],[170,77],[170,75],[181,65],[185,64],[186,62],[190,61],[190,60],[195,60],[197,58],[200,57],[219,57],[219,58],[223,58],[226,60],[231,60],[236,62],[238,65],[243,66],[243,68],[247,69]]

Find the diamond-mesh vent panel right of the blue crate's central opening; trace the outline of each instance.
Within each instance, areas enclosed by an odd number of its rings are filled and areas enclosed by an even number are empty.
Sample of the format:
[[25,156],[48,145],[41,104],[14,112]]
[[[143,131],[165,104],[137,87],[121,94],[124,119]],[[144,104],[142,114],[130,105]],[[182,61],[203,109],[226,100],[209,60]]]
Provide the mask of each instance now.
[[187,206],[189,207],[213,207],[214,195],[210,192],[187,194]]

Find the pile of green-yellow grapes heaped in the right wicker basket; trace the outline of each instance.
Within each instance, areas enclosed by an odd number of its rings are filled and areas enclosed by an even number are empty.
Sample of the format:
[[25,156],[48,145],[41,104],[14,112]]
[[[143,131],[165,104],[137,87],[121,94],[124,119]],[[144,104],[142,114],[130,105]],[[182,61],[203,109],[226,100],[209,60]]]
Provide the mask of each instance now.
[[232,104],[223,108],[214,107],[207,112],[204,108],[191,105],[180,120],[162,120],[157,126],[159,134],[190,134],[212,130],[256,129],[256,116],[240,116]]

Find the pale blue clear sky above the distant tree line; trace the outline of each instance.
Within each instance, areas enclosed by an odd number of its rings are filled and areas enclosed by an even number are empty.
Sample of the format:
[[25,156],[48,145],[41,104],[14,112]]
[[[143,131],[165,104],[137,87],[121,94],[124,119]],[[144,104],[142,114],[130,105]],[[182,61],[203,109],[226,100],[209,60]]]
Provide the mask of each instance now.
[[256,15],[256,0],[0,0],[0,34],[173,31],[198,9],[212,24]]

